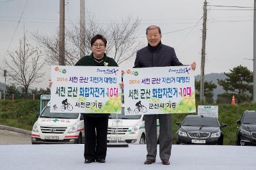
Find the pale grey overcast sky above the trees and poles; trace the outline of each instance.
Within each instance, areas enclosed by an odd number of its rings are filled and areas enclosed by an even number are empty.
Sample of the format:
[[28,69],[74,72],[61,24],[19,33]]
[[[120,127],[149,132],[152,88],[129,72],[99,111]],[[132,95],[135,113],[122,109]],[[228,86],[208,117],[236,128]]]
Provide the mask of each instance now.
[[[80,1],[65,2],[68,27],[68,23],[79,20]],[[95,15],[99,24],[120,22],[128,16],[138,17],[141,24],[135,34],[144,45],[147,45],[145,29],[149,25],[159,25],[162,43],[173,46],[183,64],[195,60],[196,74],[200,74],[204,0],[86,0],[85,3],[86,11]],[[205,74],[229,72],[239,64],[253,71],[253,61],[246,60],[253,59],[253,8],[218,7],[253,7],[253,0],[209,0],[207,3]],[[1,67],[4,67],[3,59],[8,58],[7,50],[17,49],[24,29],[49,35],[56,32],[59,5],[58,0],[0,0]],[[30,41],[33,43],[32,39]],[[126,62],[121,66],[127,68],[133,64]],[[45,88],[50,77],[47,72],[40,87]],[[0,81],[4,81],[3,73]]]

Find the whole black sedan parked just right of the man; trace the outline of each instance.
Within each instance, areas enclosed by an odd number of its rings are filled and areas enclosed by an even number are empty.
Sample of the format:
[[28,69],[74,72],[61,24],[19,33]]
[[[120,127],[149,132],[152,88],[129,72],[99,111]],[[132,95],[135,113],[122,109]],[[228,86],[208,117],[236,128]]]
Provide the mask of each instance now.
[[223,145],[222,127],[216,117],[188,115],[184,118],[177,131],[177,144]]

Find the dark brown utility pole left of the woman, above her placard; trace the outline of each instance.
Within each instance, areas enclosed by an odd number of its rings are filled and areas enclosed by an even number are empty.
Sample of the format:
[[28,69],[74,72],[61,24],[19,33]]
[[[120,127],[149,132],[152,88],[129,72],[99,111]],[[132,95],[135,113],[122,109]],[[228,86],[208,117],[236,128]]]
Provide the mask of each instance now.
[[59,64],[65,66],[65,0],[60,0]]

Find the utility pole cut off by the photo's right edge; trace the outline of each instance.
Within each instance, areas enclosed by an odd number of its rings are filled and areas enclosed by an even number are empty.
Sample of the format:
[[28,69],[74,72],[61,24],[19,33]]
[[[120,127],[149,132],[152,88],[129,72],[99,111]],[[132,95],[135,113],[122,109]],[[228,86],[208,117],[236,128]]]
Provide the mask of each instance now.
[[256,103],[256,0],[253,9],[253,103]]

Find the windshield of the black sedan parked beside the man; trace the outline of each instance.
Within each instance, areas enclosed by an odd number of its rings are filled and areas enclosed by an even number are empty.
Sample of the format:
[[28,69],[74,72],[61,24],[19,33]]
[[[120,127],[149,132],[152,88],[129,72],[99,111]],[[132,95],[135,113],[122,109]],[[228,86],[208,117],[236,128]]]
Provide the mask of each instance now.
[[218,127],[218,120],[214,117],[186,117],[182,123],[184,126],[211,126]]

